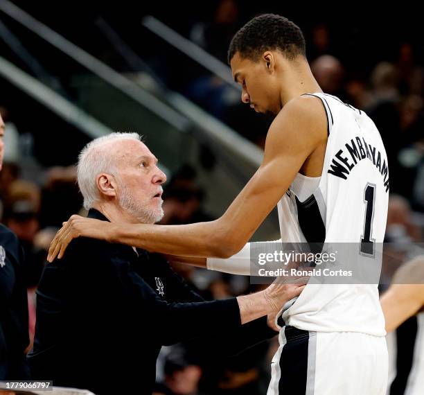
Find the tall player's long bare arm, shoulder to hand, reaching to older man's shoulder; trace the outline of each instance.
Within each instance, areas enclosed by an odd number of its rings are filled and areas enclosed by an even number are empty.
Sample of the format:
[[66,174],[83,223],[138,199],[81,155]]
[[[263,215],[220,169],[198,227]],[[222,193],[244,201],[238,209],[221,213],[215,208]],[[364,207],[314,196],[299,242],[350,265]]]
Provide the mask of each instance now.
[[176,256],[228,258],[247,243],[324,139],[326,115],[319,99],[296,98],[272,123],[260,168],[218,220],[191,225],[123,225],[73,216],[53,240],[48,258],[61,257],[78,236]]

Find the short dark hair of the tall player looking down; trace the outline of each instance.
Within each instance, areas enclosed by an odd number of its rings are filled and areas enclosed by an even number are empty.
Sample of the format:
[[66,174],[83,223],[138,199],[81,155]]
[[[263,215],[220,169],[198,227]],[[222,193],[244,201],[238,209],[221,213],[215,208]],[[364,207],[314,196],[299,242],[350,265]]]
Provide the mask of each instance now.
[[288,60],[306,57],[305,38],[299,26],[285,17],[263,14],[251,19],[234,35],[228,50],[228,63],[236,53],[257,61],[263,52],[278,49]]

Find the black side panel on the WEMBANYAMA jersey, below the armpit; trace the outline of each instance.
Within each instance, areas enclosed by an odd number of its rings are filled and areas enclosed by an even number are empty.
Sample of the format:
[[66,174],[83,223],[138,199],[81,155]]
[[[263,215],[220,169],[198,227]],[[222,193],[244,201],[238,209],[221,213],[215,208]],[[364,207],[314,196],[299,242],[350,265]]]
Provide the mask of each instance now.
[[297,220],[310,245],[311,252],[321,252],[326,239],[326,225],[322,220],[321,213],[315,195],[310,195],[304,202],[296,197]]

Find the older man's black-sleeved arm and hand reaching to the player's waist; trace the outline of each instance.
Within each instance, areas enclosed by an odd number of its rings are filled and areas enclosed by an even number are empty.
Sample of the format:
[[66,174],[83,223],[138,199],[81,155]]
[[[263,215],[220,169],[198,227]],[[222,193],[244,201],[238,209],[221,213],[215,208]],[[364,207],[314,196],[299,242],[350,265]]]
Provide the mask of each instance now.
[[149,327],[165,345],[236,331],[242,324],[278,311],[300,294],[305,283],[303,279],[297,284],[274,283],[255,294],[225,300],[168,303],[135,272],[122,278],[134,309],[141,314],[141,326],[145,330]]

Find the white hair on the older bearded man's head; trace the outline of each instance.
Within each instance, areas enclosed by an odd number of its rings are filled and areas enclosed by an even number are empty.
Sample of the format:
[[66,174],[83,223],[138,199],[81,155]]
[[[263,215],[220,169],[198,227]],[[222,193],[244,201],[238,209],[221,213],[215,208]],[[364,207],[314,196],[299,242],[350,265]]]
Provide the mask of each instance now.
[[93,204],[100,199],[100,194],[96,186],[96,178],[100,173],[107,173],[117,176],[116,157],[113,148],[107,147],[107,143],[119,140],[141,141],[138,133],[116,132],[98,137],[90,141],[82,148],[78,156],[77,176],[78,186],[84,198],[84,208],[89,210]]

